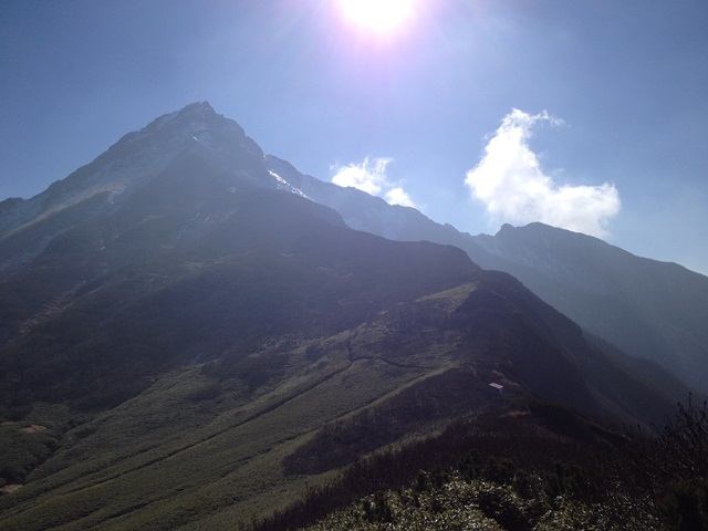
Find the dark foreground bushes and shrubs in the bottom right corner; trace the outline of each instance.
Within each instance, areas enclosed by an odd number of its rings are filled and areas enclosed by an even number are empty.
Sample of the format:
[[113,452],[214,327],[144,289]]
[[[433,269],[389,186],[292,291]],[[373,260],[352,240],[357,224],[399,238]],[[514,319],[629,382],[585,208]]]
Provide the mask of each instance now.
[[[705,404],[679,405],[655,437],[613,435],[551,404],[510,413],[357,461],[249,529],[708,529]],[[518,421],[522,413],[535,421]]]

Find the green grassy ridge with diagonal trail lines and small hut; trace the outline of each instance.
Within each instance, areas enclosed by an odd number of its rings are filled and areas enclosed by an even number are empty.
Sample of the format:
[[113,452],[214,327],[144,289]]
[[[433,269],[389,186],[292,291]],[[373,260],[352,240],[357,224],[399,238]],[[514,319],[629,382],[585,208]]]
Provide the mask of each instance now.
[[[506,275],[486,277],[476,271],[332,336],[273,336],[246,355],[164,373],[69,431],[0,501],[0,523],[232,529],[362,455],[494,404],[545,396],[604,410],[566,350],[582,344],[580,330]],[[587,347],[573,354],[597,362]],[[492,378],[503,397],[486,391]],[[641,398],[647,410],[669,410]]]

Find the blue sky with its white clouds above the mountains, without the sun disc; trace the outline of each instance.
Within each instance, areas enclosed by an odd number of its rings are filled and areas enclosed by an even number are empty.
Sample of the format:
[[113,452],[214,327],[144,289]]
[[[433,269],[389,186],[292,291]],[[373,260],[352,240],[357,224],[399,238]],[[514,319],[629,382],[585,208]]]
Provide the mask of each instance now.
[[472,235],[541,220],[708,273],[707,0],[2,0],[0,198],[196,101]]

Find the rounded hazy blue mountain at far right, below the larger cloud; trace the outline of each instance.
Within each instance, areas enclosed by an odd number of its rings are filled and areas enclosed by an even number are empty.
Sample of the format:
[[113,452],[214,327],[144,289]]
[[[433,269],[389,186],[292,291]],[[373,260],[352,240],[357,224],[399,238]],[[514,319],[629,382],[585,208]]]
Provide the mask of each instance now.
[[571,319],[708,392],[708,278],[541,223],[477,241]]

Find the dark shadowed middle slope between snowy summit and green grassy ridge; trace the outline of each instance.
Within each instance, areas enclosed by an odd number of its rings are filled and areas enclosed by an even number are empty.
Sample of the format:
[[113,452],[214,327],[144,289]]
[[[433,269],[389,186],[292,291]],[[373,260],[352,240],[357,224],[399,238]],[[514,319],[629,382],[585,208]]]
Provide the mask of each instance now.
[[[191,189],[178,181],[177,194],[207,200],[204,180]],[[457,249],[385,242],[346,229],[323,207],[263,189],[241,191],[220,223],[190,227],[192,212],[160,190],[157,204],[140,196],[156,206],[139,216],[134,197],[125,218],[118,210],[56,237],[6,284],[33,304],[3,323],[11,332],[0,365],[24,375],[0,383],[4,403],[22,387],[35,399],[115,405],[166,367],[272,334],[332,332],[476,269]],[[122,231],[112,238],[114,226]],[[54,310],[33,313],[46,305]],[[104,373],[127,381],[111,385]]]

